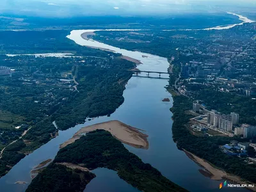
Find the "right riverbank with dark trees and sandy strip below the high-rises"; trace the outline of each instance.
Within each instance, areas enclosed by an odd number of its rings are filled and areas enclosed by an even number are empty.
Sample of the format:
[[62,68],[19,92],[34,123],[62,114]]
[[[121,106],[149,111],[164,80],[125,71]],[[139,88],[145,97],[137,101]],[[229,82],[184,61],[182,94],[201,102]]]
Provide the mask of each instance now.
[[[219,149],[218,146],[226,143],[228,138],[218,136],[205,138],[192,135],[189,132],[186,125],[191,115],[185,111],[191,108],[192,101],[182,95],[173,97],[173,101],[173,108],[171,109],[173,112],[173,140],[190,159],[206,170],[199,170],[200,173],[212,180],[225,179],[232,184],[254,184],[253,167],[244,164],[241,159],[228,157]],[[255,188],[250,189],[256,191]]]

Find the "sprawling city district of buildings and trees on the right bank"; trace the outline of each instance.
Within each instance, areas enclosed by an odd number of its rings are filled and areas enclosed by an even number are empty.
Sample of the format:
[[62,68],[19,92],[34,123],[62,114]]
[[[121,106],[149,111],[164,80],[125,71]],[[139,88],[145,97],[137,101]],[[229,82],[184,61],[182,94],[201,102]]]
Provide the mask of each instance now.
[[234,138],[219,146],[221,151],[252,163],[256,161],[255,152],[251,154],[256,149],[255,25],[196,37],[177,48],[179,56],[172,56],[173,68],[180,66],[173,90],[195,100],[188,129],[196,136]]

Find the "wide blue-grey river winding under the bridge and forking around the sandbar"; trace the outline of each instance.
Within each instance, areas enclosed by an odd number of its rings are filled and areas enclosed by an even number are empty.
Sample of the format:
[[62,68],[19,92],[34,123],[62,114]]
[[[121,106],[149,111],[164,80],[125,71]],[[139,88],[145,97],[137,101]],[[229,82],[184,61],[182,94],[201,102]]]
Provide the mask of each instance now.
[[[169,63],[166,58],[137,51],[127,51],[110,45],[92,40],[84,40],[81,34],[95,30],[71,31],[67,36],[79,45],[100,47],[129,56],[141,61],[138,65],[140,70],[153,70],[166,72]],[[145,57],[146,56],[146,57]],[[152,75],[150,75],[152,76]],[[166,92],[164,86],[168,84],[166,79],[151,79],[145,77],[132,77],[124,91],[125,101],[111,116],[102,116],[84,124],[76,125],[67,131],[60,131],[59,136],[49,141],[42,147],[26,156],[13,166],[12,170],[0,179],[0,191],[25,191],[31,182],[29,172],[37,164],[46,159],[53,159],[59,145],[77,132],[81,127],[92,125],[108,120],[120,120],[125,124],[145,130],[148,134],[148,150],[133,148],[125,145],[131,152],[140,157],[143,162],[150,163],[157,168],[165,177],[179,184],[189,191],[218,191],[220,181],[211,180],[202,175],[198,170],[202,169],[198,164],[189,159],[184,152],[177,148],[172,139],[172,95]],[[171,102],[162,102],[169,98]],[[192,107],[192,106],[191,106]],[[122,192],[138,191],[131,185],[119,179],[116,172],[100,168],[93,171],[97,177],[88,184],[84,191],[89,192]],[[15,184],[17,181],[28,184]],[[228,188],[224,191],[235,191]],[[242,191],[241,189],[239,191]],[[243,189],[245,191],[245,189]]]

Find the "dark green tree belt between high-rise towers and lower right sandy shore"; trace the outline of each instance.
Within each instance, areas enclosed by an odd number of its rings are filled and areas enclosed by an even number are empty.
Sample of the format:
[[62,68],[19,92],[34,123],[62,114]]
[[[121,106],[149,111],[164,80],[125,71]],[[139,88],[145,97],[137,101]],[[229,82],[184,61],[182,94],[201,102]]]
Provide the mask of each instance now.
[[220,136],[205,138],[191,134],[186,127],[191,116],[184,111],[191,109],[192,101],[184,96],[175,96],[173,100],[172,132],[173,140],[177,142],[178,147],[188,150],[228,173],[256,182],[256,166],[254,164],[247,164],[239,157],[230,157],[221,152],[219,146],[230,143],[234,138]]

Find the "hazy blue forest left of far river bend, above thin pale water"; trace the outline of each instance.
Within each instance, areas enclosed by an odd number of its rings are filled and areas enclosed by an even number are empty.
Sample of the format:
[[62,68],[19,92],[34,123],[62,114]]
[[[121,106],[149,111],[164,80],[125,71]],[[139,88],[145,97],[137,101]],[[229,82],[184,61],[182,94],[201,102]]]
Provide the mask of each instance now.
[[77,45],[66,37],[69,34],[65,30],[0,31],[0,54],[71,52],[81,56],[108,56],[106,51]]

